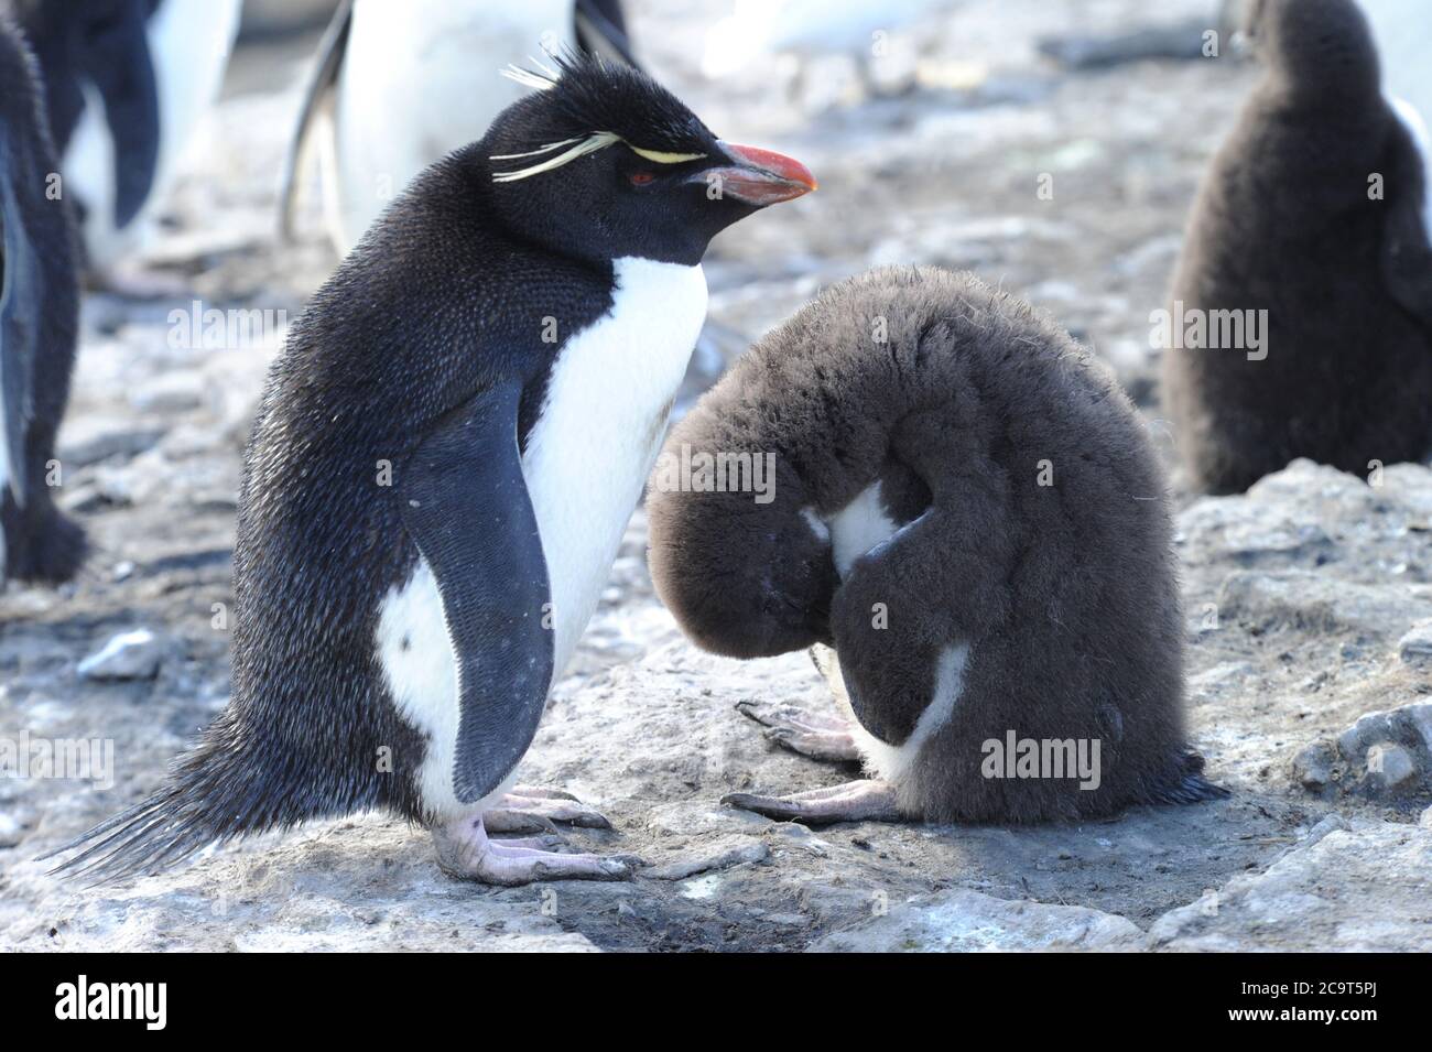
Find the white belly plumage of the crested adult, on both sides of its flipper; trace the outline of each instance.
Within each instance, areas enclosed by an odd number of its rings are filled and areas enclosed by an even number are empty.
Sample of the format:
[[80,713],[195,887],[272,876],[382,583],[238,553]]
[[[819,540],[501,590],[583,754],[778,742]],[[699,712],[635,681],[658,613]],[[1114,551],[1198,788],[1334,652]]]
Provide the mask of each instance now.
[[[551,587],[554,678],[611,573],[706,318],[699,266],[621,259],[616,279],[611,309],[561,348],[523,457]],[[473,812],[453,793],[457,666],[425,561],[384,597],[375,646],[394,704],[428,741],[424,806],[438,819]]]

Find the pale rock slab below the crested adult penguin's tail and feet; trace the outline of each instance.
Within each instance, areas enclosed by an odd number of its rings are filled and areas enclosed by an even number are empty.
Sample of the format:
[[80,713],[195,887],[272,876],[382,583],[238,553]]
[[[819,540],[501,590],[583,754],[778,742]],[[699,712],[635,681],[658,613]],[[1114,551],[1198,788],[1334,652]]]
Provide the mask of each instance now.
[[[23,873],[39,879],[39,869],[26,863]],[[56,896],[29,927],[42,946],[76,952],[591,952],[590,939],[564,929],[586,909],[571,889],[494,895],[442,876],[425,837],[364,817],[215,852],[163,877]]]

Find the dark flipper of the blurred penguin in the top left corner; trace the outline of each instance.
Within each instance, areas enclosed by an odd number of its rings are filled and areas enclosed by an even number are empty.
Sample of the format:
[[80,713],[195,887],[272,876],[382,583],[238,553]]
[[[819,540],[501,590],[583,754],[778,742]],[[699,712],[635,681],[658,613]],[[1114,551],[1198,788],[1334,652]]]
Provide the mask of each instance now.
[[147,17],[146,0],[105,4],[80,42],[82,66],[105,102],[105,123],[115,140],[116,226],[139,215],[159,167],[159,84]]

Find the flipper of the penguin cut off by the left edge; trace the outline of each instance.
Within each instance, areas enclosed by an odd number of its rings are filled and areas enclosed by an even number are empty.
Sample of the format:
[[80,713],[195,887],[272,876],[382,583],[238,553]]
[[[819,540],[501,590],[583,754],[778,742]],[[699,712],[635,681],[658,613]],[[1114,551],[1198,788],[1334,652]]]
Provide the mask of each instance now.
[[14,177],[29,170],[19,163],[17,143],[0,126],[0,399],[4,412],[6,477],[14,501],[27,492],[24,437],[34,417],[33,381],[40,341],[43,276],[40,259],[24,228]]

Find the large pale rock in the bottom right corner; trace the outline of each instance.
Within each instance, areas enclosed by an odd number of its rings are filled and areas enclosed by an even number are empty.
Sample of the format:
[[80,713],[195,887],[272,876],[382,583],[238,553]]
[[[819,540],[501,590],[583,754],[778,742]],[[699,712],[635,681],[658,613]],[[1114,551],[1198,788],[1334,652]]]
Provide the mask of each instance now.
[[1266,873],[1171,910],[1148,935],[1166,950],[1432,950],[1432,830],[1390,822],[1333,830]]

